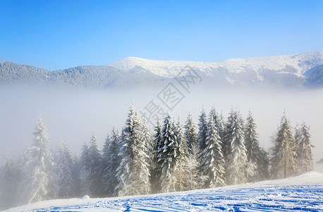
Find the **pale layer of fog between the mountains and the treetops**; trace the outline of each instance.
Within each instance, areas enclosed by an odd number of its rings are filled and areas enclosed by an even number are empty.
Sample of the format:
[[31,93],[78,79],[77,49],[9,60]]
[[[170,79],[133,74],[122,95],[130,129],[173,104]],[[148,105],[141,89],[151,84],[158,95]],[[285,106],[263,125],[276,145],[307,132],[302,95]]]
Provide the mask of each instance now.
[[[67,143],[73,154],[80,154],[83,143],[90,141],[92,132],[102,147],[106,135],[115,127],[121,131],[133,102],[138,112],[153,100],[167,111],[157,95],[162,88],[124,90],[58,90],[36,88],[0,88],[0,157],[6,152],[16,158],[30,145],[39,113],[47,126],[52,148]],[[247,117],[252,111],[257,123],[260,145],[272,146],[270,136],[279,126],[284,110],[294,127],[296,123],[310,125],[315,162],[323,158],[323,90],[226,90],[192,88],[185,98],[173,107],[171,114],[185,123],[188,112],[197,124],[202,107],[212,106],[228,117],[231,107]],[[315,164],[323,172],[323,165]]]

